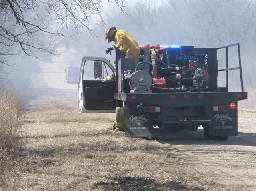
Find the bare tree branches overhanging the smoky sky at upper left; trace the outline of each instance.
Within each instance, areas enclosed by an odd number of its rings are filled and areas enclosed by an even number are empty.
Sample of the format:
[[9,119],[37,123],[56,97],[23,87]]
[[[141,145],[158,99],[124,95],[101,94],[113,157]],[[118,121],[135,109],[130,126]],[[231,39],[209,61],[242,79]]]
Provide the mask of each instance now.
[[[123,11],[125,0],[106,1]],[[6,63],[5,55],[22,52],[36,56],[36,50],[58,55],[59,37],[72,37],[81,28],[95,35],[92,27],[104,24],[102,8],[102,0],[1,0],[0,59]],[[60,30],[63,27],[68,34]],[[15,45],[19,48],[13,48]]]

